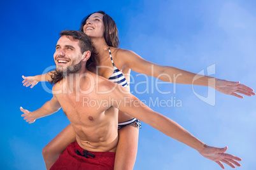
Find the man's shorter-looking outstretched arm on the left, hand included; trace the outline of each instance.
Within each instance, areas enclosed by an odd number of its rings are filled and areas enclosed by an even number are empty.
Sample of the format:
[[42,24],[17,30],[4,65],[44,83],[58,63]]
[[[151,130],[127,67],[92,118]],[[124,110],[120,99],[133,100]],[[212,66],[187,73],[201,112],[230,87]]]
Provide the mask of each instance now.
[[41,108],[35,110],[34,112],[29,112],[29,110],[25,110],[20,107],[20,110],[24,113],[21,116],[24,117],[24,120],[29,123],[33,123],[36,119],[41,117],[45,117],[47,115],[51,115],[57,112],[60,109],[60,103],[57,98],[53,95],[53,98],[47,101]]

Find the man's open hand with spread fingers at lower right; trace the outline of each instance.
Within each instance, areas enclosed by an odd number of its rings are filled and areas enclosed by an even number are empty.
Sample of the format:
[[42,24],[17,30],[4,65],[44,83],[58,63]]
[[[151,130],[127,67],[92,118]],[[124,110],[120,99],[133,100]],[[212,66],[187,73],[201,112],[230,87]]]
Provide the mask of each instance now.
[[[203,157],[215,161],[222,169],[225,169],[224,165],[225,163],[232,168],[235,168],[236,166],[241,166],[236,160],[241,161],[242,159],[239,157],[235,157],[231,154],[226,154],[227,147],[225,148],[215,148],[215,147],[209,147],[207,145],[204,146],[204,150],[199,152]],[[236,166],[234,166],[235,164]]]

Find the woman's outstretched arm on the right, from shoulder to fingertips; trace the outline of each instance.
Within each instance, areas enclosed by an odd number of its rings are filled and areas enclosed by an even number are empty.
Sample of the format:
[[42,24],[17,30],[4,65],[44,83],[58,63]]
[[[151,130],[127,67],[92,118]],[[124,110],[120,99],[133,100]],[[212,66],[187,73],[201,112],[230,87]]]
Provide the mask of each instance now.
[[150,75],[160,79],[161,81],[178,84],[210,86],[221,93],[233,95],[238,98],[243,98],[243,96],[239,95],[238,93],[246,96],[255,95],[252,88],[249,88],[244,84],[240,84],[239,82],[226,81],[206,75],[194,74],[175,67],[157,65],[144,60],[141,58],[141,56],[137,55],[133,51],[118,49],[116,56],[117,60],[122,59],[122,64],[129,67],[134,72]]

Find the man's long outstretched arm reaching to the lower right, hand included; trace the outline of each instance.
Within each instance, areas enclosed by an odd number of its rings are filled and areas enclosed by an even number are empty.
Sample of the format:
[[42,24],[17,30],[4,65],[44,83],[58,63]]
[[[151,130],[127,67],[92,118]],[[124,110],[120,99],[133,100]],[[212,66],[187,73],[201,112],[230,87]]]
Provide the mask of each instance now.
[[237,162],[237,160],[241,161],[239,157],[225,153],[227,147],[210,147],[204,144],[203,141],[198,140],[195,136],[190,134],[186,129],[182,128],[176,122],[165,117],[164,115],[154,112],[144,103],[139,101],[135,96],[124,95],[122,93],[117,94],[118,95],[115,96],[115,98],[118,98],[117,101],[120,103],[115,103],[114,105],[119,110],[136,117],[136,119],[139,119],[146,124],[149,124],[153,128],[158,129],[160,132],[166,134],[174,140],[178,140],[181,143],[196,149],[201,155],[203,155],[203,157],[217,162],[217,164],[223,169],[224,165],[222,162],[231,167],[235,167],[234,164],[236,166],[241,166],[241,164]]

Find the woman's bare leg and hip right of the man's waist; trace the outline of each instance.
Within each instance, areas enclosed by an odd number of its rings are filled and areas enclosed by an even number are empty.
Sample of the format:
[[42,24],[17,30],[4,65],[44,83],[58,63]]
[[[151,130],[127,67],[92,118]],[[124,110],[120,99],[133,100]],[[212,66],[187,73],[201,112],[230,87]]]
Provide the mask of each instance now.
[[[123,112],[118,114],[118,122],[125,122],[132,119],[130,115]],[[125,126],[118,130],[118,145],[115,157],[114,169],[133,169],[139,140],[139,128],[136,123]]]

